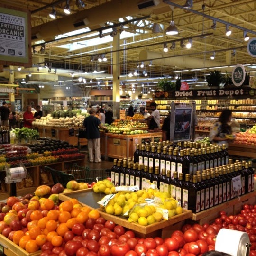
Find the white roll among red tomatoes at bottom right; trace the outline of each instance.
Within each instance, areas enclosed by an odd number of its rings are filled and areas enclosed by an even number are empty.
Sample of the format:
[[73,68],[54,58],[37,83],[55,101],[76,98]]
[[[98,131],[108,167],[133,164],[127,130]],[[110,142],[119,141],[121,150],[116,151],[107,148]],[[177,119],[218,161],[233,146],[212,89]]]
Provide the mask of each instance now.
[[245,256],[245,244],[250,244],[250,239],[246,232],[220,229],[215,242],[215,250],[232,256]]

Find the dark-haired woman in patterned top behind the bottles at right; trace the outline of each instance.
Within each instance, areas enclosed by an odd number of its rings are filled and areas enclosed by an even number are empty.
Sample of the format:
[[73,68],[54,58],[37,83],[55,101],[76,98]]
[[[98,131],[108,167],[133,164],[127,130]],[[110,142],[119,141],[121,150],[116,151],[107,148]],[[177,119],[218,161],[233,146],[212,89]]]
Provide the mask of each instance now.
[[231,117],[231,110],[223,110],[221,112],[218,121],[215,122],[213,128],[210,130],[209,138],[212,143],[228,145],[228,143],[232,141],[231,137],[227,138],[227,135],[232,135],[232,128],[229,125]]

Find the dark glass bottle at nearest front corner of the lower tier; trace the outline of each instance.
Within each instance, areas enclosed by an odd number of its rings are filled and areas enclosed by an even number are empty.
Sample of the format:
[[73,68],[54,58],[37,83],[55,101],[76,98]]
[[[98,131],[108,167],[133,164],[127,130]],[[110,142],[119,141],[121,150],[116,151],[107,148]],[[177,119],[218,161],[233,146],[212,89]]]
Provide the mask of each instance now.
[[192,183],[189,186],[188,210],[193,213],[200,211],[201,187],[197,182],[197,175],[193,175]]

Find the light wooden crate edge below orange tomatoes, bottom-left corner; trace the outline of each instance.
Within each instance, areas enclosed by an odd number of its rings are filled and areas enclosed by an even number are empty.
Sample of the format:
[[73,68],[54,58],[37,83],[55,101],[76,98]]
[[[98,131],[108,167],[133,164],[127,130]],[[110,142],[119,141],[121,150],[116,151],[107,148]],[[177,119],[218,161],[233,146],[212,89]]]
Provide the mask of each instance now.
[[3,247],[3,254],[6,256],[39,256],[41,251],[28,253],[11,240],[0,234],[0,245]]

